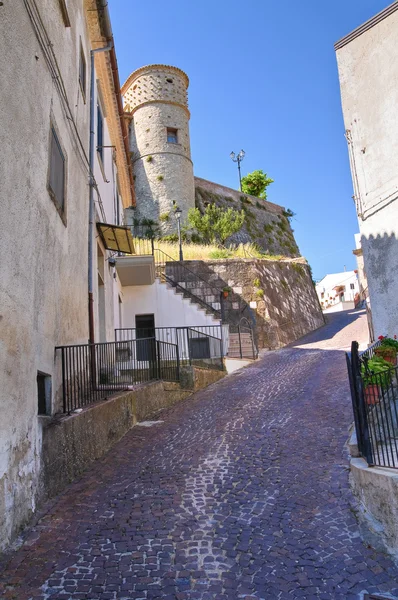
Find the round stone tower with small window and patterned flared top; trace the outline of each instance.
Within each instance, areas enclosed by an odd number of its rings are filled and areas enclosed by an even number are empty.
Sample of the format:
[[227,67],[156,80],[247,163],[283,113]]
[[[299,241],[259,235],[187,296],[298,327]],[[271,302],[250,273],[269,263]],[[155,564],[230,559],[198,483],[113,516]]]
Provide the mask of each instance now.
[[134,71],[122,87],[130,119],[130,151],[135,178],[135,217],[152,219],[162,232],[176,231],[195,206],[187,75],[177,67],[149,65]]

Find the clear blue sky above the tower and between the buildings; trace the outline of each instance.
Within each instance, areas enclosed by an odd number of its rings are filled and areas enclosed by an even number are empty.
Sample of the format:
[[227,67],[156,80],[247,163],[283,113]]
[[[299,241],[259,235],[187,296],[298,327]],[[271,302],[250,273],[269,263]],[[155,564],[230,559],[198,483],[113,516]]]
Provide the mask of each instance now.
[[109,0],[120,80],[164,63],[190,78],[195,174],[238,187],[275,180],[268,200],[292,209],[314,277],[355,267],[352,201],[334,42],[386,0]]

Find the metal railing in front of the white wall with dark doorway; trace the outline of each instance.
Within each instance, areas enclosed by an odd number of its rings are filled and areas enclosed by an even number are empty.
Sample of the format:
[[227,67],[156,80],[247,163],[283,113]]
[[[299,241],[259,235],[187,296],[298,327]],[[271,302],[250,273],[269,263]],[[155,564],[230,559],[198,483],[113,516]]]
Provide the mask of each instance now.
[[115,339],[117,342],[129,341],[141,345],[141,352],[144,352],[145,344],[160,340],[178,347],[180,365],[201,366],[215,370],[224,368],[225,352],[221,325],[149,329],[124,327],[115,329]]

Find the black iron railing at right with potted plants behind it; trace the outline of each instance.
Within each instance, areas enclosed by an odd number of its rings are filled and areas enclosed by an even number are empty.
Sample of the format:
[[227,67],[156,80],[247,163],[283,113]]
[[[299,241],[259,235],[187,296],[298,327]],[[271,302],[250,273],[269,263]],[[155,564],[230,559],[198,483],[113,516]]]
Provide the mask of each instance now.
[[398,367],[375,369],[376,342],[362,353],[352,342],[346,354],[358,450],[370,466],[398,469]]

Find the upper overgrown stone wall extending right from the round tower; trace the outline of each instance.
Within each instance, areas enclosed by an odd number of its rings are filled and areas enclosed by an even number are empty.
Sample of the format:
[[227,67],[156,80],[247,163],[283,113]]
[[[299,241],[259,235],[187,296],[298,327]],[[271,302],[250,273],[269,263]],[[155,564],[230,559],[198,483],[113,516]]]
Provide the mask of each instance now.
[[204,210],[208,204],[245,211],[244,226],[227,244],[254,242],[268,254],[300,255],[283,206],[195,177],[195,205]]

